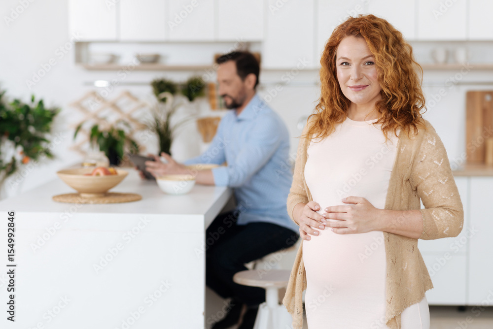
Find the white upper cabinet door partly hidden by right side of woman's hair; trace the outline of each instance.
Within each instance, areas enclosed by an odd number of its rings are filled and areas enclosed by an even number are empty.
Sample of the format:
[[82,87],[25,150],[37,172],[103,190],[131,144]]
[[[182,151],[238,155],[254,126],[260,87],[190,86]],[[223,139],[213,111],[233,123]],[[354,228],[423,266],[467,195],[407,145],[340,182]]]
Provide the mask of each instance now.
[[385,18],[407,40],[416,38],[416,0],[401,1],[395,10],[395,0],[374,0],[368,2],[368,13]]

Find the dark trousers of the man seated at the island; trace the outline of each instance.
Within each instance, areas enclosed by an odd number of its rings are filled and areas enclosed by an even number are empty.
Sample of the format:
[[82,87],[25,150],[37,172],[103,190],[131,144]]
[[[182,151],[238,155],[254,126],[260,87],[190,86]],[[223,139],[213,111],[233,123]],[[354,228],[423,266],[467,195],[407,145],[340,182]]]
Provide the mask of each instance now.
[[233,297],[248,306],[265,301],[265,290],[233,282],[245,263],[291,247],[298,233],[271,223],[236,225],[238,212],[219,214],[206,232],[206,284],[223,298]]

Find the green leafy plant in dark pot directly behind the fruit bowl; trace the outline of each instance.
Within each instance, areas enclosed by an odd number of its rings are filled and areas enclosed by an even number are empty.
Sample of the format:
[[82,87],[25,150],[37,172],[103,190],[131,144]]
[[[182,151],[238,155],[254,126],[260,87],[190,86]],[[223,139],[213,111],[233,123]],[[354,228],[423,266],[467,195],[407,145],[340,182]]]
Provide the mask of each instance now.
[[[77,137],[77,133],[80,131],[84,123],[81,123],[75,129],[73,138]],[[106,157],[109,159],[110,165],[119,165],[122,159],[124,159],[125,152],[138,153],[139,144],[130,137],[129,133],[125,130],[130,129],[130,125],[123,121],[117,121],[113,126],[107,129],[100,129],[98,124],[91,127],[89,134],[89,140],[91,145],[99,146],[99,149],[105,152]]]

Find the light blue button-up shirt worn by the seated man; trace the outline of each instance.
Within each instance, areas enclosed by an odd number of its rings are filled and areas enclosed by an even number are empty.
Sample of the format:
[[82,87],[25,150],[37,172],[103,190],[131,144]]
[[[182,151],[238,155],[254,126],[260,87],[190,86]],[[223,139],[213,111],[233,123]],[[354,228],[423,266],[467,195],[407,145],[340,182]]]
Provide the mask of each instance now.
[[299,232],[289,218],[286,200],[291,187],[289,133],[281,117],[255,96],[236,115],[221,120],[207,151],[185,165],[217,164],[214,184],[234,188],[238,225],[266,222]]

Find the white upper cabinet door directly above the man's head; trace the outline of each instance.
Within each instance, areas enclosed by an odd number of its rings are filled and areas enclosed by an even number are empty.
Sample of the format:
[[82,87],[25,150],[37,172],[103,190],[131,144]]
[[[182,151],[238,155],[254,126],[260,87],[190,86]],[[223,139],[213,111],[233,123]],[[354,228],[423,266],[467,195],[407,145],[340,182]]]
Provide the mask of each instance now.
[[216,1],[217,40],[256,41],[263,39],[265,7],[263,0]]

